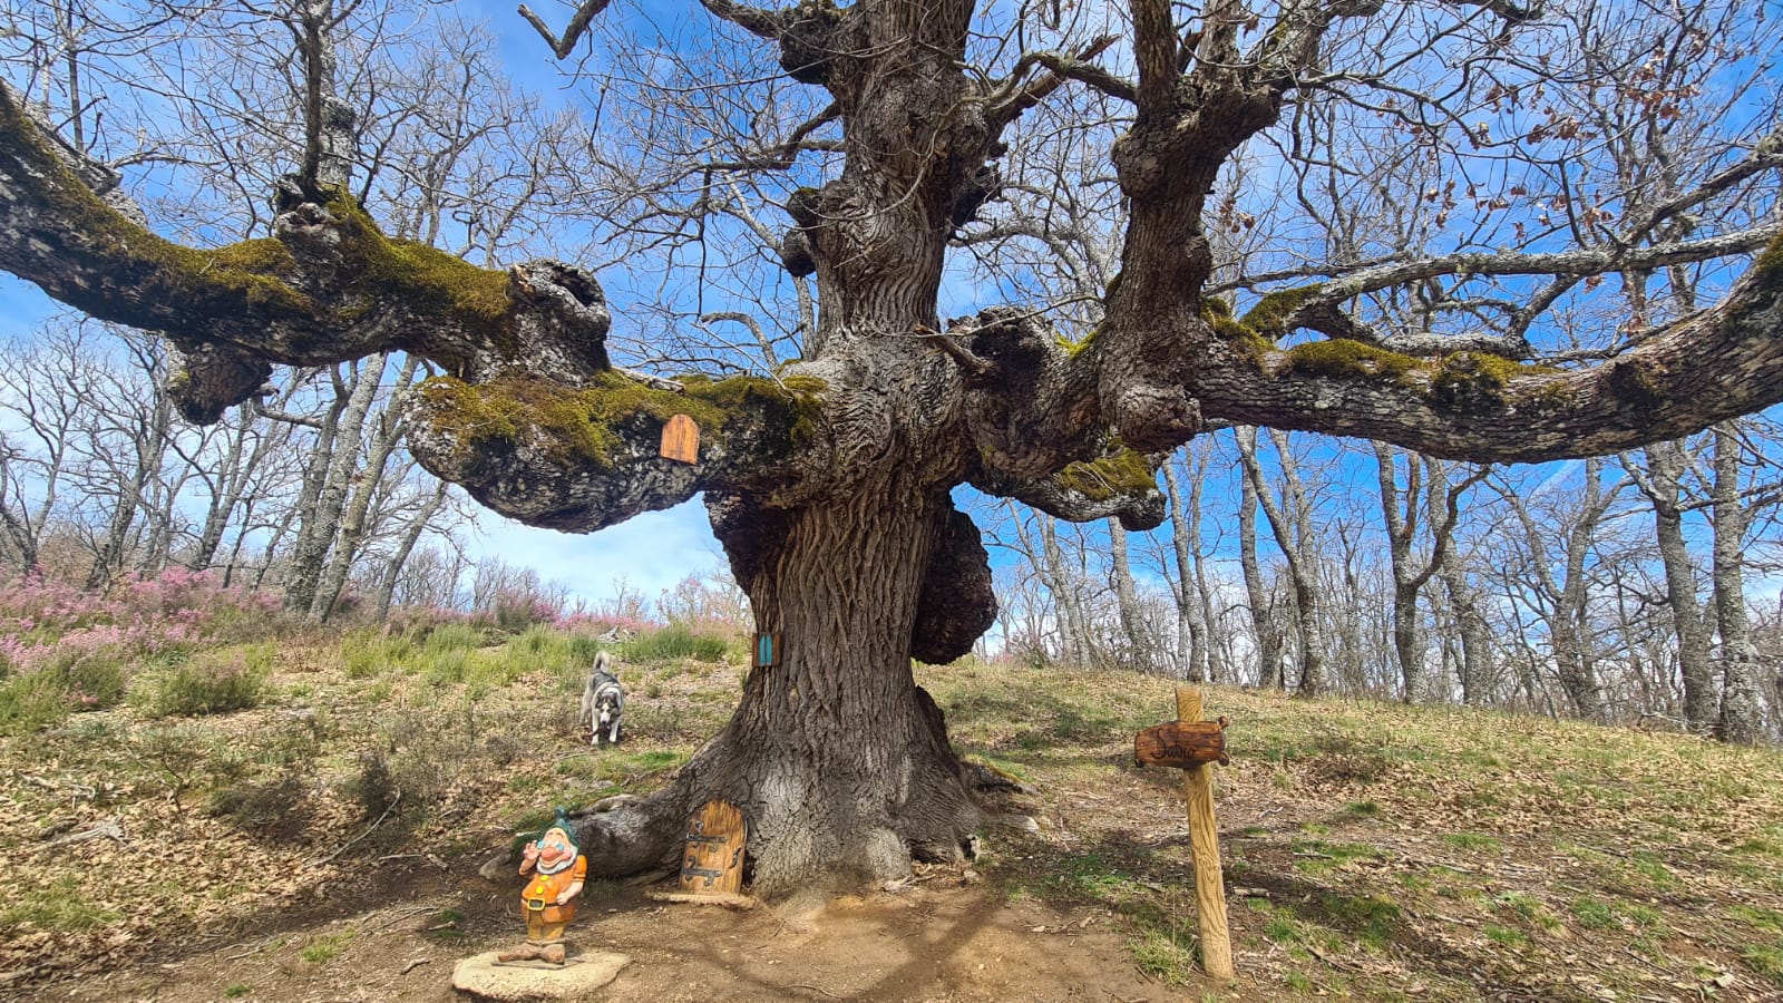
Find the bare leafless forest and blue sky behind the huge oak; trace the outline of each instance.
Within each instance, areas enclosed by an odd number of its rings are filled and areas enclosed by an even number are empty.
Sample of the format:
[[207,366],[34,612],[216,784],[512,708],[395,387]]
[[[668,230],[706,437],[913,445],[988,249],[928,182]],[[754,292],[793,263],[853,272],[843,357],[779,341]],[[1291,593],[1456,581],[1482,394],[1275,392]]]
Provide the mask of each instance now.
[[[719,29],[642,9],[597,21],[601,79],[647,84],[603,86],[587,104],[551,87],[544,45],[512,14],[490,12],[492,30],[474,11],[426,4],[300,7],[280,21],[223,4],[200,20],[157,4],[12,0],[0,7],[0,55],[7,80],[71,143],[141,178],[159,225],[235,239],[264,232],[255,193],[301,153],[292,39],[305,11],[326,11],[339,91],[357,102],[357,195],[392,236],[474,262],[579,246],[629,318],[615,355],[644,369],[768,371],[797,353],[811,291],[777,269],[765,220],[804,168],[713,168],[722,150],[685,143],[745,109],[763,136],[808,109],[744,48],[688,55]],[[1583,62],[1562,71],[1507,55],[1435,95],[1448,123],[1346,96],[1334,75],[1221,175],[1214,291],[1245,307],[1259,289],[1332,268],[1321,261],[1503,245],[1541,253],[1549,239],[1628,248],[1712,230],[1722,250],[1758,246],[1778,227],[1765,168],[1783,155],[1769,14],[1742,2],[1557,7],[1537,36],[1583,39]],[[1061,16],[1080,29],[1113,14]],[[1334,32],[1337,54],[1366,45]],[[635,37],[653,43],[624,45]],[[514,57],[521,46],[531,61]],[[1444,50],[1391,55],[1437,68]],[[731,57],[744,62],[724,64]],[[713,79],[727,84],[685,86]],[[1070,139],[1123,118],[1093,89],[1061,91],[1032,114],[1054,128],[1006,153],[1002,198],[956,239],[965,253],[943,307],[997,293],[1080,337],[1114,278],[1123,205]],[[596,125],[622,136],[626,159],[587,141]],[[820,137],[795,141],[826,155]],[[703,171],[678,166],[692,153]],[[1710,198],[1705,220],[1694,207]],[[676,271],[690,264],[692,278]],[[1366,296],[1359,316],[1401,341],[1473,318],[1565,364],[1615,352],[1585,332],[1639,341],[1737,271],[1735,261],[1430,277]],[[94,594],[169,569],[205,573],[310,621],[403,607],[503,619],[524,607],[522,621],[736,614],[722,580],[661,603],[622,594],[578,610],[565,584],[499,559],[472,566],[455,543],[469,503],[403,446],[405,394],[428,371],[401,353],[283,371],[257,402],[193,427],[169,403],[153,336],[73,316],[14,328],[0,361],[0,559],[14,587],[30,573]],[[961,489],[991,544],[1002,607],[984,653],[1783,735],[1772,546],[1783,477],[1767,416],[1619,457],[1498,468],[1237,427],[1170,455],[1161,480],[1170,518],[1148,534]],[[7,644],[21,671],[50,642],[25,626]],[[1722,707],[1730,678],[1760,694],[1740,719]]]

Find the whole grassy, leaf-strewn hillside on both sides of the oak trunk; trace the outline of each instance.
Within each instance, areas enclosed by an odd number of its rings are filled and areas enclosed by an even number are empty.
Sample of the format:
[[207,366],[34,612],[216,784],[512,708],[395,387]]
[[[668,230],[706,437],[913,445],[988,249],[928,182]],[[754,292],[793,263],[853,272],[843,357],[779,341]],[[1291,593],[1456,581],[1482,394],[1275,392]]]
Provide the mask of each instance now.
[[[617,650],[628,741],[588,750],[574,705],[596,650],[460,623],[210,637],[128,660],[112,700],[14,716],[0,994],[152,966],[267,916],[323,966],[353,933],[303,924],[317,896],[396,894],[367,862],[456,880],[555,803],[661,783],[740,692],[726,639],[640,637]],[[1171,684],[970,662],[918,676],[961,751],[1038,789],[1036,826],[986,832],[984,894],[1104,917],[1120,964],[1157,983],[1214,999],[1783,996],[1776,751],[1207,687],[1234,755],[1218,805],[1241,980],[1218,989],[1195,974],[1179,775],[1130,762],[1132,734],[1173,717]]]

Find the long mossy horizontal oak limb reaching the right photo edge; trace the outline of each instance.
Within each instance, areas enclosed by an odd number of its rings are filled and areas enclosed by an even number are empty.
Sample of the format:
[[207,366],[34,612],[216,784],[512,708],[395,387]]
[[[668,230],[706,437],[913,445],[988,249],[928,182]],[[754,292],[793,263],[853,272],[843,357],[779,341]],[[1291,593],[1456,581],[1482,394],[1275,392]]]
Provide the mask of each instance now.
[[1592,368],[1360,343],[1252,350],[1184,387],[1207,416],[1359,435],[1448,459],[1539,462],[1672,439],[1783,400],[1783,237],[1715,307]]

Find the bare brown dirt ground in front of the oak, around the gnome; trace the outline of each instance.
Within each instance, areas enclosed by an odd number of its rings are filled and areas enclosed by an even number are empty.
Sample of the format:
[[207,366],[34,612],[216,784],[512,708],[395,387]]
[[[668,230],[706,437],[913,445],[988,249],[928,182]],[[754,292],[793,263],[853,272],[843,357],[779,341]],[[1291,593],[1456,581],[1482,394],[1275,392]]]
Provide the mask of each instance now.
[[[1105,910],[1004,901],[961,871],[902,892],[731,912],[660,905],[637,889],[590,903],[572,935],[633,958],[601,998],[706,999],[1180,999],[1143,976]],[[462,885],[462,891],[453,891]],[[512,889],[474,875],[417,873],[415,894],[283,930],[59,983],[34,998],[280,1003],[460,999],[453,964],[519,932]],[[448,930],[428,932],[451,921]]]

